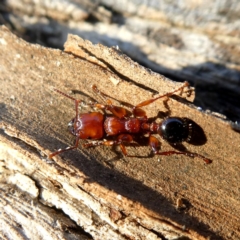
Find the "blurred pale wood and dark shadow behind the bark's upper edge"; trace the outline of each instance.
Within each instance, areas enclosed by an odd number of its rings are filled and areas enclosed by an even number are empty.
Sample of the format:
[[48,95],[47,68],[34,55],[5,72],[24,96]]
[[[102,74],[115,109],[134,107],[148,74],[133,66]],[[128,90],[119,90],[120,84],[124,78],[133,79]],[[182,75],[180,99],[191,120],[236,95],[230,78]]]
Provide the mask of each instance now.
[[[0,24],[63,49],[69,33],[196,88],[194,104],[240,122],[240,1],[5,0]],[[223,116],[222,116],[223,115]]]

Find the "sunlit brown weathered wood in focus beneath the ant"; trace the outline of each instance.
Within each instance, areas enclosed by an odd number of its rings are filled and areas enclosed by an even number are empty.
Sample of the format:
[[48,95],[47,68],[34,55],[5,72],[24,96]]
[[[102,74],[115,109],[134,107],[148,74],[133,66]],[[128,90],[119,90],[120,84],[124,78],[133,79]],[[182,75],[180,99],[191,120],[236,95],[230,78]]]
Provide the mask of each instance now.
[[[50,161],[50,152],[74,140],[65,130],[74,105],[53,87],[88,101],[99,100],[91,91],[96,84],[116,100],[137,104],[177,84],[115,49],[75,36],[69,37],[64,53],[28,44],[1,27],[0,48],[2,236],[57,239],[57,228],[62,239],[71,237],[64,231],[77,237],[81,229],[94,239],[240,238],[240,135],[228,122],[168,101],[172,116],[202,127],[207,142],[184,145],[211,158],[211,165],[184,156],[129,159],[108,147],[81,146]],[[166,112],[162,101],[146,110],[149,116]],[[162,150],[169,149],[162,141]],[[144,146],[128,151],[150,152]],[[15,193],[9,191],[15,188]],[[55,215],[50,208],[61,212]],[[27,213],[31,231],[22,222]],[[56,227],[58,220],[66,228]]]

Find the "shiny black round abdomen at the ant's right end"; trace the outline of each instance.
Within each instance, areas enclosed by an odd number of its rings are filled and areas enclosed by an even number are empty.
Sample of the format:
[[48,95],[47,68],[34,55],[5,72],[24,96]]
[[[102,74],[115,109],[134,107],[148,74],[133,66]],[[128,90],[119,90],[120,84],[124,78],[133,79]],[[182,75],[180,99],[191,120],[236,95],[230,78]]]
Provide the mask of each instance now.
[[160,126],[159,134],[169,143],[186,141],[189,137],[189,127],[186,119],[170,117]]

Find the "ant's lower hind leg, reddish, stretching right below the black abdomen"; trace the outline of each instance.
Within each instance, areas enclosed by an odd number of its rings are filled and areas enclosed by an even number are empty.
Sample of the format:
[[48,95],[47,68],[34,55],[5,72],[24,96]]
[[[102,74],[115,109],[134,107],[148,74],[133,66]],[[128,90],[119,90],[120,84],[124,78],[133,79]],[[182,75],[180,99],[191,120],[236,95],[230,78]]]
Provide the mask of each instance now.
[[173,154],[182,154],[188,157],[198,157],[201,158],[206,164],[209,164],[212,162],[212,160],[198,154],[198,153],[192,153],[192,152],[178,152],[178,151],[166,151],[166,152],[160,152],[159,147],[160,147],[160,142],[159,140],[154,137],[150,136],[149,137],[149,146],[152,148],[152,151],[155,155],[164,155],[164,156],[170,156]]

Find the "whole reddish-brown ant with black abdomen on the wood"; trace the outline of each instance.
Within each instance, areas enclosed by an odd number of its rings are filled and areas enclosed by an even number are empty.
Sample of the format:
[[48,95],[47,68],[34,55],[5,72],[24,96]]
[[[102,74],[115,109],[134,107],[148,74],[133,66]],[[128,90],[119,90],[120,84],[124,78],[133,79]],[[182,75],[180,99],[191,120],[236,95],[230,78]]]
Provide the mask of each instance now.
[[[115,146],[119,145],[122,153],[127,157],[131,156],[127,153],[124,144],[130,144],[132,142],[140,143],[140,139],[148,135],[148,145],[150,146],[154,155],[173,155],[173,154],[183,154],[188,157],[197,157],[209,164],[212,160],[193,152],[184,151],[165,151],[161,152],[159,140],[152,134],[159,134],[164,140],[170,144],[177,144],[183,141],[188,141],[191,138],[192,126],[188,123],[187,119],[180,117],[168,117],[162,122],[157,123],[154,120],[150,120],[146,112],[142,107],[147,106],[160,98],[169,98],[174,93],[178,91],[183,91],[185,87],[189,87],[188,82],[184,82],[183,85],[172,92],[166,93],[164,95],[151,98],[149,100],[143,101],[136,106],[132,107],[131,114],[129,116],[129,111],[123,107],[118,107],[112,104],[110,100],[106,100],[106,104],[100,103],[89,103],[87,106],[91,108],[101,109],[103,111],[111,112],[110,115],[100,112],[90,112],[90,113],[78,113],[78,107],[80,103],[84,103],[83,100],[77,100],[58,89],[54,91],[60,93],[61,95],[73,100],[75,102],[75,117],[69,122],[68,128],[70,132],[76,136],[76,142],[74,146],[67,147],[65,149],[59,149],[58,151],[49,155],[52,158],[59,153],[66,152],[78,147],[80,139],[91,139],[98,140],[88,142],[83,144],[84,147],[94,147],[99,145],[104,146]],[[102,93],[96,85],[92,86],[92,90],[99,94],[102,98],[106,98],[107,95]],[[107,140],[106,140],[107,139]]]

